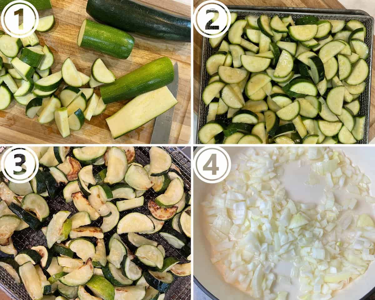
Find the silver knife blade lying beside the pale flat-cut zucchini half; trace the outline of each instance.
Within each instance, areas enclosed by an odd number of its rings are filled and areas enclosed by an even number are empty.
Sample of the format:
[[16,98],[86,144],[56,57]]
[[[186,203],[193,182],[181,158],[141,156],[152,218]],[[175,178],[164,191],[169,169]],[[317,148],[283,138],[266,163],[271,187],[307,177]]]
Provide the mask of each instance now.
[[[174,98],[177,98],[178,92],[178,64],[175,63],[174,80],[168,84],[168,89],[171,91]],[[150,144],[168,144],[169,136],[171,135],[172,120],[173,120],[174,107],[167,110],[162,115],[159,115],[155,120],[154,131],[151,136]]]

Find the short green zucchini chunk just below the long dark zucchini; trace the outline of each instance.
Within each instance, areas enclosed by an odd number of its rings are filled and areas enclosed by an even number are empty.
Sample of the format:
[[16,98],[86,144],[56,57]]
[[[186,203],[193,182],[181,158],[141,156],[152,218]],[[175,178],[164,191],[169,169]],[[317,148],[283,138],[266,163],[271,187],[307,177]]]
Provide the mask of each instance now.
[[94,49],[117,58],[129,57],[134,46],[134,37],[108,25],[85,20],[86,28],[81,44],[83,48]]

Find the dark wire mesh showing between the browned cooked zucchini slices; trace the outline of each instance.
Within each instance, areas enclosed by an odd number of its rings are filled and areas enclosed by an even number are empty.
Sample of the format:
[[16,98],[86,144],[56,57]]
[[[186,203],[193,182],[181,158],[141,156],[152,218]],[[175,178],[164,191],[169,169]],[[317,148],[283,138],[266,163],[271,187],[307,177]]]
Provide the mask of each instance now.
[[[181,174],[185,183],[185,191],[190,190],[190,168],[191,162],[190,159],[177,147],[163,147],[172,157],[172,162],[178,166],[181,170]],[[136,157],[135,160],[142,165],[147,165],[150,163],[150,158],[148,155],[148,151],[150,147],[135,147]],[[98,168],[98,167],[96,167]],[[102,168],[102,167],[99,167]],[[149,189],[147,192],[144,193],[144,198],[146,201],[150,199],[156,198],[157,194],[153,191],[153,189]],[[48,203],[50,214],[48,219],[46,220],[45,224],[52,219],[53,214],[57,213],[60,210],[69,210],[72,213],[78,212],[75,208],[73,202],[66,203],[65,200],[62,198],[62,193],[57,196],[55,199],[46,198]],[[138,211],[144,214],[150,214],[150,211],[147,208],[147,205],[143,207],[135,208],[132,210],[126,210],[120,212],[120,218],[123,217],[125,214],[133,211]],[[102,218],[92,222],[93,226],[100,226],[102,223]],[[104,240],[107,242],[110,237],[116,232],[116,228],[112,229],[111,231],[104,234]],[[165,249],[166,257],[175,257],[183,263],[188,263],[181,252],[174,248],[173,246],[169,245],[166,240],[164,240],[160,234],[144,234],[143,236],[147,237],[148,239],[155,240],[159,244],[163,245]],[[46,246],[46,239],[42,231],[35,231],[33,229],[27,228],[22,231],[16,231],[12,236],[13,244],[17,251],[21,251],[23,249],[30,249],[32,246],[36,245],[44,245]],[[175,276],[177,277],[177,276]],[[28,293],[24,286],[18,285],[14,279],[3,269],[0,268],[0,287],[5,290],[5,292],[15,300],[30,300]],[[171,285],[171,288],[166,293],[166,300],[189,300],[190,299],[190,290],[191,290],[191,279],[190,276],[186,277],[177,277],[174,283]]]

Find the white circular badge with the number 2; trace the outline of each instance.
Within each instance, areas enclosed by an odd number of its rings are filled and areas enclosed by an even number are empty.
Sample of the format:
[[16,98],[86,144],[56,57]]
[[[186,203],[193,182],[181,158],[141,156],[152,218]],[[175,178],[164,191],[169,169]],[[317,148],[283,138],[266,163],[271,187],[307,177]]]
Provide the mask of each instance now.
[[[216,20],[209,25],[209,22],[214,17]],[[231,26],[231,13],[228,7],[220,1],[204,1],[195,9],[193,24],[196,31],[202,36],[208,38],[219,37],[229,30]]]

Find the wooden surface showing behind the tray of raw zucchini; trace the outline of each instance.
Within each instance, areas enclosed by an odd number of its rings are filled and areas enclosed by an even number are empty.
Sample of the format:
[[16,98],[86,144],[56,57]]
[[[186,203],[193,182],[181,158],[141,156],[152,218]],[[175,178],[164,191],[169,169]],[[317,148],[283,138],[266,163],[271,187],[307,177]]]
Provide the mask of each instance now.
[[[203,0],[194,0],[194,9]],[[226,5],[254,5],[254,6],[282,6],[282,7],[313,7],[313,8],[338,8],[345,7],[338,0],[221,0]],[[361,9],[361,7],[357,7]],[[199,105],[199,84],[201,69],[201,51],[202,36],[194,30],[194,112],[198,112]],[[375,48],[372,49],[373,57],[375,57]],[[369,141],[375,138],[375,63],[372,64],[372,86],[371,86],[371,105],[370,105],[370,134]]]

